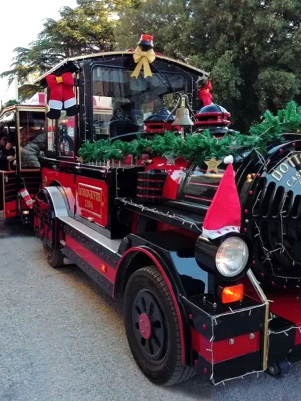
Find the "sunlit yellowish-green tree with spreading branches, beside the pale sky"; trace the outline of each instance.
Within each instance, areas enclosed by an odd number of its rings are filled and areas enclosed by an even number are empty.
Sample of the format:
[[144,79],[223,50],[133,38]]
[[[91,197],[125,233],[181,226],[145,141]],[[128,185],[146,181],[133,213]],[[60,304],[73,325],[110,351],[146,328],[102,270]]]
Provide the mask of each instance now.
[[17,76],[21,99],[32,96],[40,88],[28,82],[31,76],[39,76],[67,57],[112,50],[114,16],[135,1],[77,0],[74,9],[62,7],[60,19],[47,19],[44,29],[28,48],[15,49],[12,68],[0,77],[9,78],[11,84]]

